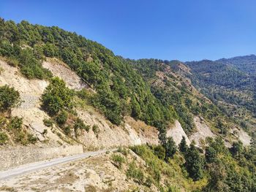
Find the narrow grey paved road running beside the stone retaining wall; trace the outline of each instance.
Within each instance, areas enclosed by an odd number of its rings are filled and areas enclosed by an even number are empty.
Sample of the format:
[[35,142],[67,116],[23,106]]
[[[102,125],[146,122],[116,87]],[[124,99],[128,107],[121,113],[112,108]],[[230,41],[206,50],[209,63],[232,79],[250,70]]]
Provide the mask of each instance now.
[[88,152],[88,153],[83,153],[83,154],[79,154],[79,155],[72,155],[72,156],[67,156],[67,157],[62,157],[62,158],[53,158],[50,161],[39,161],[39,162],[32,163],[32,164],[26,164],[23,166],[19,166],[18,168],[15,168],[15,169],[9,169],[7,171],[0,172],[0,181],[7,180],[12,177],[16,177],[20,174],[34,172],[39,169],[45,169],[49,166],[55,166],[58,164],[67,163],[69,161],[75,161],[75,160],[78,160],[81,158],[88,158],[90,156],[99,155],[100,153],[105,153],[105,152],[106,152],[106,150],[99,150],[99,151]]

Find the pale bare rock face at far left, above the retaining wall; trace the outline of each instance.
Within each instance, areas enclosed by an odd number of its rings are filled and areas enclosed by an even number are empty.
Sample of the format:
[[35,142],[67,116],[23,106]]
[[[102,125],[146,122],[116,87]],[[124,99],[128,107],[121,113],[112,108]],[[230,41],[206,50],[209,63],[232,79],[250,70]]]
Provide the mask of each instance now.
[[61,139],[44,125],[43,119],[49,116],[40,109],[40,98],[48,85],[45,80],[28,80],[23,77],[17,68],[0,61],[3,72],[0,74],[0,86],[9,85],[20,93],[21,104],[12,109],[12,116],[23,118],[23,125],[28,127],[31,133],[37,135],[39,140],[45,140],[42,137],[42,131],[48,131],[47,137],[50,142],[57,143]]

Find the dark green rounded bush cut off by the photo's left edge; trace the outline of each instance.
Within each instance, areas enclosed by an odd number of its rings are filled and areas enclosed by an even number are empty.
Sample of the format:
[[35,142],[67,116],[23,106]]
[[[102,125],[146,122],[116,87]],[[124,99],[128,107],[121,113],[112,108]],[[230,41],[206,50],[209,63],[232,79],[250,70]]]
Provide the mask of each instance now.
[[20,93],[8,85],[0,87],[0,111],[4,112],[15,107],[20,101]]

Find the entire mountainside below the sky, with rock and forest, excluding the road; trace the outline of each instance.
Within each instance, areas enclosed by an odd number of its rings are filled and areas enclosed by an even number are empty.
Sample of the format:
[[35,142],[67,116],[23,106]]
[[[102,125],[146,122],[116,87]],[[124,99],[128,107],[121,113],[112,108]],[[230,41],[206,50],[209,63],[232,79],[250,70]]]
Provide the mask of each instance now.
[[2,191],[256,190],[251,61],[131,60],[56,26],[4,19],[0,55],[1,169],[118,147]]

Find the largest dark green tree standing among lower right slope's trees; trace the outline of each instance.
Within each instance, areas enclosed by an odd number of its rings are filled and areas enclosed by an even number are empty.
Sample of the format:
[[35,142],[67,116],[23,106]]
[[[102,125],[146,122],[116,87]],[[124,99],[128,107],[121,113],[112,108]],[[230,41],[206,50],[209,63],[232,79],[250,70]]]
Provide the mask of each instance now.
[[203,178],[203,157],[197,147],[192,143],[185,154],[185,167],[192,180],[197,181]]

